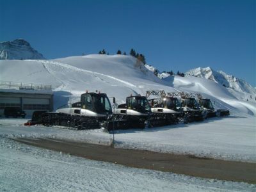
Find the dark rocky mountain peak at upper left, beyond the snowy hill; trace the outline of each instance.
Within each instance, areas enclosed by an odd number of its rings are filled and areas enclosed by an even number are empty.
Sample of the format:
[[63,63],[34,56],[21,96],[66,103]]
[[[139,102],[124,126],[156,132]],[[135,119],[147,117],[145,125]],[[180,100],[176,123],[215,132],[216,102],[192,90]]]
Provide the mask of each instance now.
[[44,60],[44,56],[23,39],[0,43],[0,60]]

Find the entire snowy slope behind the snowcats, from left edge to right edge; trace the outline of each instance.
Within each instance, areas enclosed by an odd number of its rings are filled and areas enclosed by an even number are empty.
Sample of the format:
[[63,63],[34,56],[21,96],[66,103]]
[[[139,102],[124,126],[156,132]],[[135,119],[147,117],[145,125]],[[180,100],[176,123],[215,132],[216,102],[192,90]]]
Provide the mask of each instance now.
[[79,100],[86,90],[107,93],[116,97],[118,104],[131,94],[164,90],[203,93],[216,102],[217,108],[230,109],[232,115],[256,114],[255,103],[239,99],[243,97],[240,92],[235,97],[220,84],[197,77],[169,76],[163,81],[131,56],[93,54],[56,60],[1,60],[0,67],[0,81],[52,84],[55,109],[69,99]]

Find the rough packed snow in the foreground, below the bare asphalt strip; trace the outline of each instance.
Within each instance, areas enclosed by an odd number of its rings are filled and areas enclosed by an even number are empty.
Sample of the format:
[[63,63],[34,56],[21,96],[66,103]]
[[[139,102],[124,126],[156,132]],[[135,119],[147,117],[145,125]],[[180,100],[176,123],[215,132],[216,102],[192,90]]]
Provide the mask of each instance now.
[[241,182],[129,168],[1,138],[1,191],[255,191]]

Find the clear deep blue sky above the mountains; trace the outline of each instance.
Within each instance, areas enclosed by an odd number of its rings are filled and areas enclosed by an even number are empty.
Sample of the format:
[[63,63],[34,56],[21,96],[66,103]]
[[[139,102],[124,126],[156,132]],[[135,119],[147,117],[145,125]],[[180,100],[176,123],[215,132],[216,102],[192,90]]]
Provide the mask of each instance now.
[[254,0],[0,3],[0,42],[24,38],[45,58],[133,48],[162,71],[209,66],[256,86]]

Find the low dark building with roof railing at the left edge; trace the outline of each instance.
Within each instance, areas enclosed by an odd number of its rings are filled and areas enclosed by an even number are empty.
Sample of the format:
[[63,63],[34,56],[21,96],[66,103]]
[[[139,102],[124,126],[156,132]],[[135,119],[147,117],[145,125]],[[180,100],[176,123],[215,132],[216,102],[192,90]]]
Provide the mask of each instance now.
[[0,115],[4,108],[20,107],[31,116],[33,111],[53,110],[53,92],[51,85],[13,83],[0,81]]

